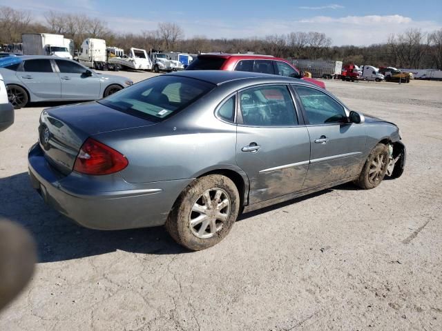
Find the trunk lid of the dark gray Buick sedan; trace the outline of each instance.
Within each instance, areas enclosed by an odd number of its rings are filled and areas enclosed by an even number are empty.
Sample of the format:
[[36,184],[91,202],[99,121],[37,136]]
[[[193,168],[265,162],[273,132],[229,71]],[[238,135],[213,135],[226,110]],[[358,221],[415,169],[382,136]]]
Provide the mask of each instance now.
[[41,112],[39,144],[48,163],[62,174],[69,174],[88,137],[153,124],[155,122],[119,112],[97,102],[49,108]]

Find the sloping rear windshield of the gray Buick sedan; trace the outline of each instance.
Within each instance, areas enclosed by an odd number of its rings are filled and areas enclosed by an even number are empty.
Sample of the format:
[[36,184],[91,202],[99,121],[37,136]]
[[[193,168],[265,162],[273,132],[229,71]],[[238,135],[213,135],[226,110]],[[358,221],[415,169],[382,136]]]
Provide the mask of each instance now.
[[147,79],[98,102],[150,121],[162,121],[200,99],[214,87],[204,81],[166,75]]

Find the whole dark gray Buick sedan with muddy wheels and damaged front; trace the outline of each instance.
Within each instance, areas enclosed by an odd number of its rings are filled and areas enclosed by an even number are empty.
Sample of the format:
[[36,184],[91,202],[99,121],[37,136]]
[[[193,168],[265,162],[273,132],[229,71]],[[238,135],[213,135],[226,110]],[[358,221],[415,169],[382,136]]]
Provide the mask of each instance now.
[[202,250],[240,212],[400,177],[405,146],[394,123],[350,111],[305,81],[185,71],[44,110],[28,161],[44,201],[77,223],[166,225],[178,243]]

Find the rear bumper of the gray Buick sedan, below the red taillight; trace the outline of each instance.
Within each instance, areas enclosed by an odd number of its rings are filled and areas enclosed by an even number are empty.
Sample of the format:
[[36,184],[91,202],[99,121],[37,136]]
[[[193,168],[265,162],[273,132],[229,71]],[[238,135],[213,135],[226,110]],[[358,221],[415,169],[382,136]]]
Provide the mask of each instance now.
[[[175,199],[192,181],[130,184],[119,174],[109,177],[109,183],[106,176],[73,173],[64,177],[49,165],[38,144],[29,151],[28,168],[32,187],[48,205],[79,225],[96,230],[164,225]],[[97,183],[90,185],[93,181]],[[85,183],[89,186],[86,189]],[[119,189],[109,190],[111,185]]]

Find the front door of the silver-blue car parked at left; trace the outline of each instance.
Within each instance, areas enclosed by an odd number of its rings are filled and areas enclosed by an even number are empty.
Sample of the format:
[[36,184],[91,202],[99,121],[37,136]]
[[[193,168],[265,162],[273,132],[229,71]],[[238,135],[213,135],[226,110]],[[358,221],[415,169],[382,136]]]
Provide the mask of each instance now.
[[69,100],[101,99],[101,82],[96,74],[88,76],[88,69],[73,61],[56,59],[61,81],[61,97]]

